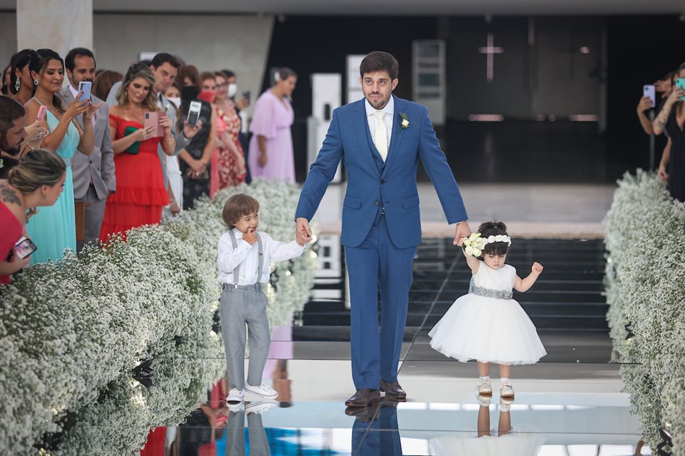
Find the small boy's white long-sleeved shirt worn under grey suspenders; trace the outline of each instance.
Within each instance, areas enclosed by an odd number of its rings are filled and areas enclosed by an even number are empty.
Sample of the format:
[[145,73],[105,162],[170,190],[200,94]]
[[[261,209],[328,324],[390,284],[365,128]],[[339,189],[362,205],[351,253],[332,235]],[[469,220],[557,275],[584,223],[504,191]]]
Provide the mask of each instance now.
[[[239,229],[233,228],[235,234],[235,242],[238,247],[233,249],[233,244],[230,242],[230,232],[225,232],[219,238],[218,247],[218,265],[219,265],[219,281],[222,284],[235,284],[233,280],[233,269],[240,264],[240,276],[238,277],[238,285],[252,285],[257,283],[257,268],[259,267],[259,247],[255,242],[250,245],[249,242],[243,240],[243,233]],[[307,247],[302,247],[297,242],[279,242],[270,237],[265,232],[257,232],[257,235],[262,239],[264,264],[262,269],[261,283],[265,284],[270,279],[269,264],[271,261],[285,261],[295,257],[299,257]]]

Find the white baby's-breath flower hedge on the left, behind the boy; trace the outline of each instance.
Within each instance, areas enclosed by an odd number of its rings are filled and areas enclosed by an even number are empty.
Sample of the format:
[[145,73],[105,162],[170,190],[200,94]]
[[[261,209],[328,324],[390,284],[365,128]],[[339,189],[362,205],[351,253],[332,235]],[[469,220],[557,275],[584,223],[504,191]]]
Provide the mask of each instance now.
[[[260,201],[260,229],[293,239],[299,187],[258,180],[0,287],[0,454],[130,455],[197,408],[225,370],[216,247],[236,192]],[[273,324],[303,309],[315,269],[315,249],[273,266]],[[132,370],[150,358],[145,388]]]

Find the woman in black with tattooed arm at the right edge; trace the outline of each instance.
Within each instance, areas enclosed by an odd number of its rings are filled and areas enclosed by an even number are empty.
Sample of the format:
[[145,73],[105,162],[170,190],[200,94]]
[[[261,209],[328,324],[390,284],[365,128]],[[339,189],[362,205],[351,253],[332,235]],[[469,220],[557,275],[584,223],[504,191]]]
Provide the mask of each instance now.
[[[685,63],[676,72],[678,78],[685,79]],[[654,120],[654,134],[668,133],[669,142],[664,150],[664,157],[659,165],[659,175],[666,177],[666,165],[669,167],[667,182],[671,197],[685,202],[685,89],[674,87],[664,108]]]

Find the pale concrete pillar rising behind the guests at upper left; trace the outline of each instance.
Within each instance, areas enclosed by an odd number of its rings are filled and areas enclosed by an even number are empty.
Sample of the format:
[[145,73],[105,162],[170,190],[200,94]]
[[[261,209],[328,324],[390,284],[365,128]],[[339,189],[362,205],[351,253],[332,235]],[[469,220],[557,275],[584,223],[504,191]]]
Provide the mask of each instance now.
[[16,0],[16,44],[50,48],[64,58],[71,48],[93,48],[93,0]]

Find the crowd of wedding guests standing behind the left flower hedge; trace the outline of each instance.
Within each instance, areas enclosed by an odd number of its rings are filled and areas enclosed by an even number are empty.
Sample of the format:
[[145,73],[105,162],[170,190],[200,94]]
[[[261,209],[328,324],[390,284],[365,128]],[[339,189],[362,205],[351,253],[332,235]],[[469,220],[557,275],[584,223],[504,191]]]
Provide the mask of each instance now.
[[[255,177],[295,180],[296,81],[281,69],[255,104]],[[1,88],[0,284],[28,264],[59,261],[113,234],[125,239],[128,229],[249,182],[240,111],[250,95],[237,96],[233,71],[200,72],[158,53],[122,75],[98,69],[87,48],[64,59],[23,49],[4,68]]]

